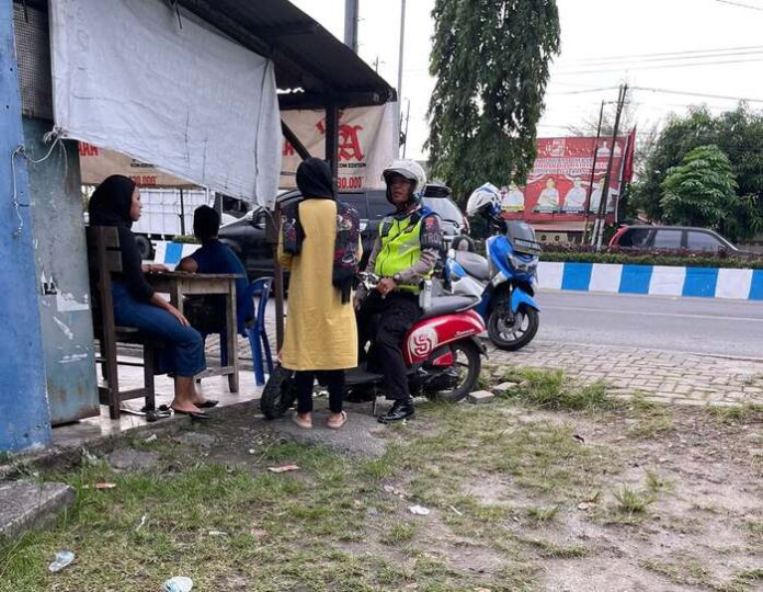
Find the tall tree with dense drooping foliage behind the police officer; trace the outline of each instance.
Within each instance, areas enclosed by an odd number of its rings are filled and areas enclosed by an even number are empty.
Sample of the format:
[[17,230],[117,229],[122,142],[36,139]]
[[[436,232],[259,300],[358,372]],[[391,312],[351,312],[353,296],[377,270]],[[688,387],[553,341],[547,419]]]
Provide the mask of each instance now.
[[559,50],[556,1],[435,0],[432,16],[432,173],[459,198],[488,180],[524,183]]

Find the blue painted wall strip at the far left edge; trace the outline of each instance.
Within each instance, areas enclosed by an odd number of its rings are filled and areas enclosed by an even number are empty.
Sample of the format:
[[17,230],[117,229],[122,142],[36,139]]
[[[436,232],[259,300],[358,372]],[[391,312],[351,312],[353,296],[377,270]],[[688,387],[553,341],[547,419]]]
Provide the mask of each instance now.
[[20,157],[18,215],[13,207],[11,155],[23,144],[13,1],[0,0],[0,451],[50,443],[29,178]]

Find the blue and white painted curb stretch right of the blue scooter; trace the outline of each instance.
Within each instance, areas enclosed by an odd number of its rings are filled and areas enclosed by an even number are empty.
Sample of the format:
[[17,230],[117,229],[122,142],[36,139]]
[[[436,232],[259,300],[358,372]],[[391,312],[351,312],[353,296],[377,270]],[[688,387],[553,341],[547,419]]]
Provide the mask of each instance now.
[[545,289],[763,300],[763,270],[542,261]]

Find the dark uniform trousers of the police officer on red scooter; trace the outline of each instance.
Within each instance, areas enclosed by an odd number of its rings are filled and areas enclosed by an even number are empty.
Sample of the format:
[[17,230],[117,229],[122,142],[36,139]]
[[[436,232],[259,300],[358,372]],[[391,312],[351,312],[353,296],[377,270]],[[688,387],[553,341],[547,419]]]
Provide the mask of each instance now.
[[405,400],[411,396],[400,344],[420,317],[419,297],[403,291],[395,291],[385,298],[373,291],[357,311],[358,361],[365,361],[365,345],[372,341],[368,369],[384,374],[388,399]]

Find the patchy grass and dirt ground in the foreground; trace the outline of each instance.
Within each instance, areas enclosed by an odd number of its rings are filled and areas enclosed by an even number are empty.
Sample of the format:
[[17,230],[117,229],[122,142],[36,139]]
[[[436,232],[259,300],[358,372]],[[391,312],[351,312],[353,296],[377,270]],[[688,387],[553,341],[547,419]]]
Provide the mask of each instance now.
[[[0,548],[0,590],[158,590],[170,566],[215,591],[763,590],[760,409],[625,405],[544,380],[488,405],[422,402],[392,429],[351,407],[352,437],[252,405],[128,442],[133,465],[122,451],[55,475],[78,506]],[[572,398],[539,406],[544,389]],[[288,463],[299,470],[267,470]],[[95,479],[118,487],[84,487]],[[47,574],[62,545],[78,561]]]

